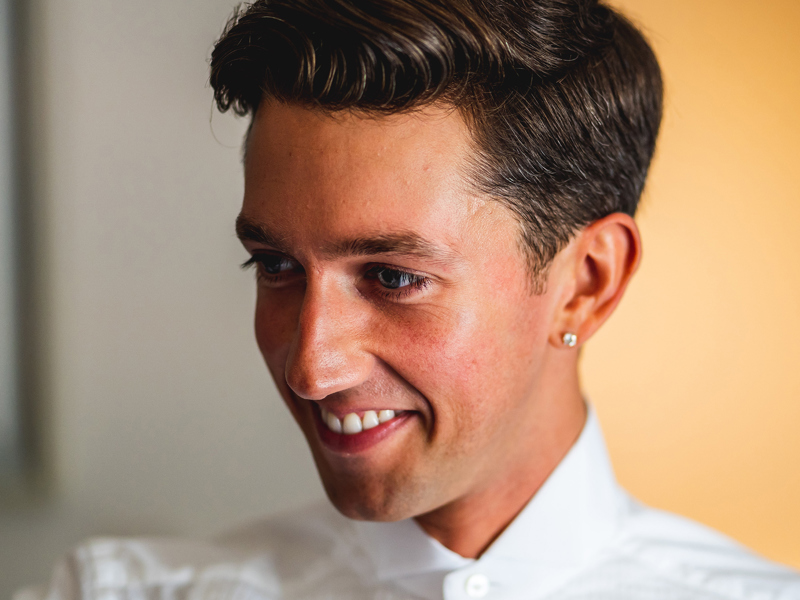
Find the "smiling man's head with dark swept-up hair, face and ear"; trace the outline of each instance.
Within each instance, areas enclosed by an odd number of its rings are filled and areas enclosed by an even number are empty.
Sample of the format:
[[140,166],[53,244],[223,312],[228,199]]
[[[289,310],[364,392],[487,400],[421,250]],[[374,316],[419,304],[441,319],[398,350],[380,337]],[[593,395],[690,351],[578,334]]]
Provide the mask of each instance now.
[[638,262],[646,43],[594,2],[256,2],[211,81],[253,117],[256,337],[334,504],[518,510],[582,423],[561,336]]

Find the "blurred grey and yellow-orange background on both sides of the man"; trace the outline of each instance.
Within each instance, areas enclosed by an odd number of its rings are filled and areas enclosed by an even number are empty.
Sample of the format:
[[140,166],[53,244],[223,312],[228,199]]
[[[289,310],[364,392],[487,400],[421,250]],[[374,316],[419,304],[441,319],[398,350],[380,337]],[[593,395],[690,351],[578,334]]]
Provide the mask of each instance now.
[[[800,3],[614,4],[667,108],[644,261],[585,349],[586,393],[636,496],[800,567]],[[0,55],[21,109],[0,276],[22,309],[0,410],[16,377],[35,449],[0,483],[0,597],[87,536],[204,536],[323,495],[237,268],[246,124],[207,85],[233,6],[29,0],[0,20],[21,49]]]

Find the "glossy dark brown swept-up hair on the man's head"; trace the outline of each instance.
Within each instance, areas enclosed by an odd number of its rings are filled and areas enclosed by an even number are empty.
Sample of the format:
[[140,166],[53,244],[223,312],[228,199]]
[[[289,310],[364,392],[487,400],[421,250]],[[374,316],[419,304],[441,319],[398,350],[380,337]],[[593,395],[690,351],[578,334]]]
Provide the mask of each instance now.
[[644,37],[597,0],[256,0],[217,42],[211,85],[251,116],[264,98],[454,106],[474,182],[519,217],[535,275],[579,229],[636,212],[663,95]]

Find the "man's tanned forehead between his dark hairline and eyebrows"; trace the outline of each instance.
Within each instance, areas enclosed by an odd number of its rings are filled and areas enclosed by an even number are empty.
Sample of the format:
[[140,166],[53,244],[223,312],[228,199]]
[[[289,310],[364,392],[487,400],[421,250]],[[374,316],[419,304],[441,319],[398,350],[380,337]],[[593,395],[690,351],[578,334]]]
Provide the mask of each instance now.
[[444,232],[483,204],[465,177],[470,151],[453,108],[375,116],[265,103],[249,135],[242,213],[289,235]]

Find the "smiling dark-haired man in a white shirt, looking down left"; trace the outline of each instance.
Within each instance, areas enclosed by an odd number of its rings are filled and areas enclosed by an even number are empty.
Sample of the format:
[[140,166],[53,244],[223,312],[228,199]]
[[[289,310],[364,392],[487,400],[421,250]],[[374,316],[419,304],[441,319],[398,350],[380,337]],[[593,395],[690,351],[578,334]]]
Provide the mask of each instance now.
[[92,542],[53,598],[800,598],[633,502],[581,394],[661,116],[627,21],[590,0],[259,1],[211,69],[252,119],[259,348],[338,512]]

